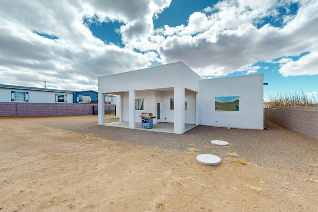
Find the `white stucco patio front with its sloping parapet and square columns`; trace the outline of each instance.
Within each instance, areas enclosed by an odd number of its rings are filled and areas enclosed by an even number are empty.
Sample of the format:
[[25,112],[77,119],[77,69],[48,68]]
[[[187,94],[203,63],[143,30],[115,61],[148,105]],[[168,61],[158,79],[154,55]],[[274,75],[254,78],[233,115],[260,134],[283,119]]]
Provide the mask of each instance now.
[[[107,93],[115,95],[122,92],[128,92],[128,105],[125,102],[125,98],[123,102],[125,108],[123,120],[126,120],[128,111],[129,128],[135,128],[135,122],[138,120],[139,115],[136,114],[134,108],[135,98],[138,98],[135,97],[135,95],[143,90],[173,89],[176,91],[173,96],[176,103],[173,111],[174,131],[175,133],[182,134],[184,133],[185,120],[184,90],[185,88],[188,88],[198,92],[200,79],[202,78],[194,71],[189,69],[182,62],[178,62],[143,70],[98,77],[98,92],[101,94]],[[102,95],[100,95],[99,101],[101,100]],[[156,112],[155,102],[156,99],[154,99],[153,108],[149,108],[153,109],[154,112]],[[137,111],[137,113],[140,113],[140,111]],[[98,124],[101,125],[104,123],[102,111],[98,111],[98,114]]]

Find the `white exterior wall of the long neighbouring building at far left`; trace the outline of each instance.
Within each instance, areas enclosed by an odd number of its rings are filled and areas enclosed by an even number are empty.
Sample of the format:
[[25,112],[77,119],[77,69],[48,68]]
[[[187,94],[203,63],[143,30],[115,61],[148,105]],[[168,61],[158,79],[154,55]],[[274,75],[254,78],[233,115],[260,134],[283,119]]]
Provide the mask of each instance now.
[[[24,90],[24,89],[12,89],[12,88],[0,88],[0,101],[12,102],[11,91],[28,92],[29,93],[28,103],[55,103],[56,94],[67,95],[66,103],[73,103],[73,93],[36,91],[36,90]],[[14,101],[14,102],[17,102],[17,101]],[[65,104],[65,102],[59,102],[59,103]]]

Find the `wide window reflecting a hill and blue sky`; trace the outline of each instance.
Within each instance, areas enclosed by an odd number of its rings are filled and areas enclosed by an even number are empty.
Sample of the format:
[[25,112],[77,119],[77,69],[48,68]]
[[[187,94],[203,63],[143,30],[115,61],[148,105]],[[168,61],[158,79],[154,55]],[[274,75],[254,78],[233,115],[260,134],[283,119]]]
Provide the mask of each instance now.
[[215,97],[215,110],[239,111],[239,96]]

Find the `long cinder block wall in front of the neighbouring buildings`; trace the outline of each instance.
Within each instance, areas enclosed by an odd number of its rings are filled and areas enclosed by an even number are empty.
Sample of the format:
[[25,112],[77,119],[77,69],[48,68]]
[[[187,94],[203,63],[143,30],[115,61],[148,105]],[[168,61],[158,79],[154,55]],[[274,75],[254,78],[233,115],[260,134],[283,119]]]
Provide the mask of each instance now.
[[4,103],[0,102],[0,116],[74,116],[93,114],[97,104]]

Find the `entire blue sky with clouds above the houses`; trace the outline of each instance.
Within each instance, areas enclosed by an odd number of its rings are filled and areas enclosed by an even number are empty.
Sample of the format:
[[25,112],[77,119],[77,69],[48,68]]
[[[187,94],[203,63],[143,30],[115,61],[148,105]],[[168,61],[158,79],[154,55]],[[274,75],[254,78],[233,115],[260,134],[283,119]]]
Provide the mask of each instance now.
[[203,78],[264,74],[264,98],[318,92],[318,0],[0,0],[0,83],[98,90],[182,61]]

